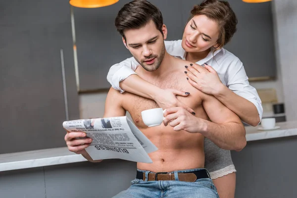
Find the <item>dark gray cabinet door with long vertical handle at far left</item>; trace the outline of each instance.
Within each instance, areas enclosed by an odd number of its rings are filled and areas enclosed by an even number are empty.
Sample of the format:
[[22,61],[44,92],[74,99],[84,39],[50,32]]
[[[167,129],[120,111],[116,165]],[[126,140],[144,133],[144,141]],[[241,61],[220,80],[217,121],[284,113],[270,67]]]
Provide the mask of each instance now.
[[65,146],[60,49],[69,119],[79,118],[69,2],[3,1],[0,24],[0,153]]

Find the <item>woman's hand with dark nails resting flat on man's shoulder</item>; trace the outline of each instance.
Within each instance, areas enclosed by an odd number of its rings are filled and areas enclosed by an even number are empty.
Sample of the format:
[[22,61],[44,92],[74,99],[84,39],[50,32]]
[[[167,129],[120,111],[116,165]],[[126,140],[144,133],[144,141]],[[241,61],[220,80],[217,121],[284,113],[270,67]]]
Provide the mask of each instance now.
[[206,63],[205,68],[198,64],[193,64],[193,66],[187,66],[186,70],[185,73],[189,83],[205,94],[217,95],[225,86],[217,72]]

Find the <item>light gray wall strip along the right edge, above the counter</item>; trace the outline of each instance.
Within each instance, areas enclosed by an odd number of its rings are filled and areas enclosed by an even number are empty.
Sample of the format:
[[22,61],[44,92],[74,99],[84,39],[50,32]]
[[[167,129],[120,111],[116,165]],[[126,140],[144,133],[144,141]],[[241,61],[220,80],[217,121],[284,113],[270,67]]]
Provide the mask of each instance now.
[[297,0],[274,0],[273,3],[286,116],[292,121],[297,120]]

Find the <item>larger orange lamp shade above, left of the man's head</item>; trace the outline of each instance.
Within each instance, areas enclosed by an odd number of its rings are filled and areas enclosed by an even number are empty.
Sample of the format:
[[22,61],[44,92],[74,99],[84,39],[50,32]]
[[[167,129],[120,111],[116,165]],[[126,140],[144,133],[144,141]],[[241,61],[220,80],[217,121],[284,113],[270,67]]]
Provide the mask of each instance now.
[[95,8],[112,5],[119,0],[69,0],[69,3],[75,7]]

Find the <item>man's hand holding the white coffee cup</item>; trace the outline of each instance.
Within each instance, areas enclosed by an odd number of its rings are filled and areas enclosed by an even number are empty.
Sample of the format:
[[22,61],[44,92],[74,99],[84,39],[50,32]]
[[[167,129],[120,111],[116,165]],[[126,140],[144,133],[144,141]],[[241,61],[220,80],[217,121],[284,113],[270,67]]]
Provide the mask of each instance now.
[[164,112],[164,125],[168,124],[173,130],[184,130],[189,133],[199,133],[205,130],[206,124],[203,119],[192,115],[183,107],[171,107]]

